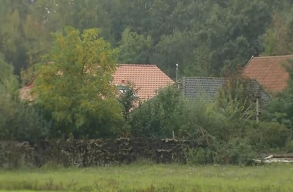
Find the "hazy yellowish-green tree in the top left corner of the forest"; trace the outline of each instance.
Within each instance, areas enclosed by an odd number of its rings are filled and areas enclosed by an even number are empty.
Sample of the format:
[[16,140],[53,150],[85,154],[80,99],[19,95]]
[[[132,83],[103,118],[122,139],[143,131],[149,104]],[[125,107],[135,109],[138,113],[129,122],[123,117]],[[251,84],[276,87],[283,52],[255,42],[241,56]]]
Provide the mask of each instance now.
[[35,17],[33,1],[0,1],[0,49],[19,75],[22,68],[40,61],[50,45],[42,18]]

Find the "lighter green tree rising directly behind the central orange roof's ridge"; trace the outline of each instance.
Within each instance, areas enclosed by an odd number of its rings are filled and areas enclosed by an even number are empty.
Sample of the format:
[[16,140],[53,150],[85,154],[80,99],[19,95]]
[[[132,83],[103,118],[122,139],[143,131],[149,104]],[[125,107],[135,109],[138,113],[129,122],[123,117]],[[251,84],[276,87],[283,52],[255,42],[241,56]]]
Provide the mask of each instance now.
[[119,49],[120,63],[150,63],[153,42],[150,36],[145,38],[126,28],[122,33]]

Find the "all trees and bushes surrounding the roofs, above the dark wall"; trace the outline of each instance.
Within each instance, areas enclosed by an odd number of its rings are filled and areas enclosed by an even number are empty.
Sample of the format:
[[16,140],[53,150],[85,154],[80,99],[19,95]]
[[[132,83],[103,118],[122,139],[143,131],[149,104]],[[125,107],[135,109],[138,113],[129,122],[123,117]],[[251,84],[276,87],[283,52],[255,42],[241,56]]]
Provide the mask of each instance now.
[[[229,76],[215,102],[186,100],[168,87],[139,103],[131,86],[117,94],[111,85],[117,62],[156,63],[174,79],[176,63],[179,77],[225,76],[252,55],[292,54],[292,4],[0,0],[0,139],[161,138],[174,131],[209,146],[187,154],[198,163],[248,163],[256,152],[292,152],[291,66],[287,90],[258,124],[255,101],[237,76]],[[34,102],[19,101],[18,88],[36,73]]]

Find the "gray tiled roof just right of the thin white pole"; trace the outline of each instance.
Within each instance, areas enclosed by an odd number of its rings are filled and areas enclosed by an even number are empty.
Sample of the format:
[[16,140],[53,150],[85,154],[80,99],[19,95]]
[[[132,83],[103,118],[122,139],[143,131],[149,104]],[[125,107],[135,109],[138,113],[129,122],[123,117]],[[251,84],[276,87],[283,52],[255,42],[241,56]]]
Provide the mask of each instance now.
[[186,98],[195,98],[205,94],[209,100],[214,100],[224,78],[218,77],[183,77],[180,79],[180,89]]

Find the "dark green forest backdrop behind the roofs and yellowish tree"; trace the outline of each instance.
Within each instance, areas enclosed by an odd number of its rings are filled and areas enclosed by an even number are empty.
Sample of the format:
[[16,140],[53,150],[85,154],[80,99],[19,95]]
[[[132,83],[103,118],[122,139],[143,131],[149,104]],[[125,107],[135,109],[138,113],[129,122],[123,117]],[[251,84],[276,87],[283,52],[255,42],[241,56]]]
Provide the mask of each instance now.
[[0,50],[18,75],[52,46],[52,32],[100,28],[121,63],[168,75],[221,75],[252,55],[292,53],[291,0],[0,1]]

